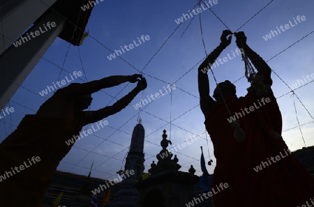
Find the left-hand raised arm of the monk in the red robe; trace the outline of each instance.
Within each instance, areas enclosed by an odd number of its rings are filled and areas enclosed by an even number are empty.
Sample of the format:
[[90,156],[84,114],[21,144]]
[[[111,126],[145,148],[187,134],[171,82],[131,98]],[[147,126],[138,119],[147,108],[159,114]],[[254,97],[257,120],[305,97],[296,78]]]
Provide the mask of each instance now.
[[200,108],[206,117],[208,112],[210,111],[211,107],[215,104],[215,101],[209,95],[209,78],[207,72],[210,70],[211,66],[214,64],[218,56],[223,49],[230,45],[231,43],[231,36],[227,38],[228,35],[232,34],[231,31],[225,30],[220,37],[221,43],[216,47],[216,49],[207,56],[207,58],[202,62],[200,67],[198,68],[198,92],[200,93]]

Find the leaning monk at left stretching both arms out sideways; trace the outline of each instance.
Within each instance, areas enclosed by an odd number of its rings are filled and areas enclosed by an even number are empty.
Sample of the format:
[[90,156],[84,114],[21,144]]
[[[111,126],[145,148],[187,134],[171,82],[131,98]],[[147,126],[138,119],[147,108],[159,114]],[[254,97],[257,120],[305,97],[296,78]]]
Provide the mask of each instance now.
[[[137,86],[114,105],[83,111],[91,105],[91,93],[124,82]],[[103,118],[120,112],[146,87],[146,79],[137,74],[70,84],[56,91],[36,114],[24,116],[0,144],[0,206],[41,206],[54,171],[73,146],[66,141],[80,135],[84,125],[101,124]]]

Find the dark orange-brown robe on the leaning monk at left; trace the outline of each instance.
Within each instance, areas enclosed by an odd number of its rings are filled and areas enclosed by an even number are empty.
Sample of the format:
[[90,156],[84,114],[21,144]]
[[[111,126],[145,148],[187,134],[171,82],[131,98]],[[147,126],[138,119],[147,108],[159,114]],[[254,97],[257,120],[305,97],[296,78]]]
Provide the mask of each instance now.
[[[24,116],[0,144],[0,176],[9,175],[0,182],[1,206],[41,206],[54,171],[73,146],[65,141],[79,135],[83,125],[83,113],[73,118]],[[30,166],[28,159],[37,156],[40,161]],[[24,170],[20,170],[21,165]],[[20,172],[13,174],[11,167]]]

